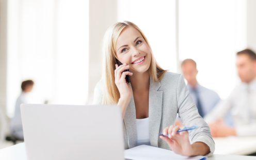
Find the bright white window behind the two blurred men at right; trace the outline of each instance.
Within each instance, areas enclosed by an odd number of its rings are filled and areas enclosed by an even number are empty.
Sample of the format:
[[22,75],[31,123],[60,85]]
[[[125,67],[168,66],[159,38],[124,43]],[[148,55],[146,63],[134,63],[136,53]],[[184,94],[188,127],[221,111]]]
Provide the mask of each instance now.
[[246,47],[245,1],[179,1],[180,59],[194,59],[198,81],[226,98],[239,79],[235,53]]

